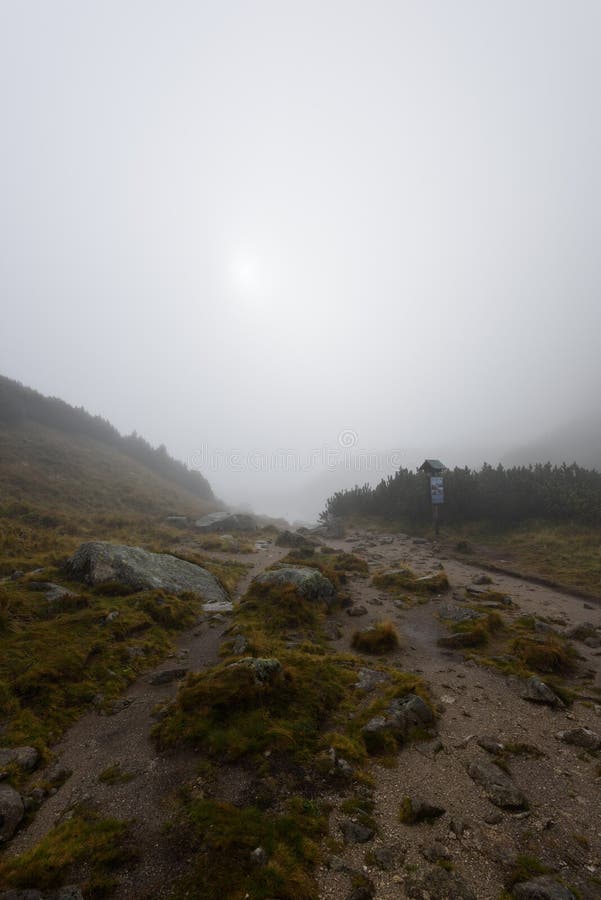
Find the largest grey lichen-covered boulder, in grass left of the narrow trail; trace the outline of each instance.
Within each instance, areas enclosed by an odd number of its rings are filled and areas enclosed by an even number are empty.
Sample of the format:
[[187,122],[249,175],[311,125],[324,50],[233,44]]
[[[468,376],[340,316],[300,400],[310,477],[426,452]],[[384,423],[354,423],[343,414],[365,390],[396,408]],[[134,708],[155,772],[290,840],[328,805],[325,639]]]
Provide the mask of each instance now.
[[225,612],[232,603],[214,575],[201,566],[167,553],[150,553],[140,547],[90,541],[82,544],[66,563],[74,578],[98,585],[116,581],[134,590],[164,590],[170,594],[191,591],[212,611]]

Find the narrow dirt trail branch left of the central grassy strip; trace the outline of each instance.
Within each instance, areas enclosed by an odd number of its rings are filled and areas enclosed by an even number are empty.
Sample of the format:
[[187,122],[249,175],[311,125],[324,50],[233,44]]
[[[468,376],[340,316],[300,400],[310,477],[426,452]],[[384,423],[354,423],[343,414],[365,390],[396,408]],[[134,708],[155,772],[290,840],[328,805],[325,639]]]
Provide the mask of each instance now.
[[[240,580],[234,599],[244,593],[258,572],[286,552],[270,546],[239,557],[223,554],[223,559],[236,558],[251,567]],[[177,791],[193,778],[198,759],[191,751],[157,754],[150,738],[156,723],[152,712],[158,703],[175,696],[179,682],[159,685],[150,682],[160,671],[186,667],[195,672],[217,663],[228,625],[227,615],[215,617],[215,621],[201,617],[194,628],[179,636],[176,651],[169,659],[129,687],[125,694],[129,705],[111,716],[89,713],[66,732],[54,750],[56,762],[72,774],[43,803],[29,827],[16,835],[7,848],[8,855],[33,847],[71,807],[90,801],[104,815],[134,820],[133,839],[139,859],[119,870],[115,900],[159,900],[168,896],[174,865],[178,863],[178,848],[167,841],[163,829],[176,810]],[[132,774],[132,780],[119,784],[98,781],[98,776],[115,764]],[[36,773],[36,779],[39,775]],[[185,864],[184,860],[179,862]]]

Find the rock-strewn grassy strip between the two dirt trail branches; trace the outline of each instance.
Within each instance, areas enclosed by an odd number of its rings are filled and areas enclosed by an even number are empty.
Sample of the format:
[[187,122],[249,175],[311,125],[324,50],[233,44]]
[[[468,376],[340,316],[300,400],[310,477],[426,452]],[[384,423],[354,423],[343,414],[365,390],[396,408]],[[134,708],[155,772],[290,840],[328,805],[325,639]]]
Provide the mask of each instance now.
[[[387,681],[366,698],[355,687],[360,658],[328,649],[321,640],[325,618],[324,603],[305,600],[294,588],[251,585],[234,610],[235,631],[246,637],[255,658],[277,658],[281,668],[257,682],[251,666],[230,655],[190,675],[157,724],[159,747],[194,748],[209,781],[237,761],[260,784],[273,786],[265,803],[255,799],[252,805],[233,807],[193,792],[183,799],[175,827],[191,841],[192,868],[175,886],[177,900],[317,900],[315,866],[327,811],[313,798],[349,785],[337,774],[332,751],[351,764],[352,785],[368,784],[363,726],[393,698],[424,690],[415,676],[374,663]],[[290,636],[299,631],[303,642],[290,646]],[[393,743],[384,761],[398,753]],[[369,819],[370,805],[358,795],[345,808]],[[251,859],[257,847],[266,852],[263,865]]]

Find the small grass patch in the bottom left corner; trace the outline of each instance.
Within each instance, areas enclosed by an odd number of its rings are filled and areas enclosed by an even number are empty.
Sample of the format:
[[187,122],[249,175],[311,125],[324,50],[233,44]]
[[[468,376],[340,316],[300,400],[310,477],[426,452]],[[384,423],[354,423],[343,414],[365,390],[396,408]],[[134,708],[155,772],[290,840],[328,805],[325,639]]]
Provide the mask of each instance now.
[[80,807],[32,850],[0,861],[0,884],[48,890],[77,881],[95,900],[112,892],[119,867],[134,858],[127,823]]

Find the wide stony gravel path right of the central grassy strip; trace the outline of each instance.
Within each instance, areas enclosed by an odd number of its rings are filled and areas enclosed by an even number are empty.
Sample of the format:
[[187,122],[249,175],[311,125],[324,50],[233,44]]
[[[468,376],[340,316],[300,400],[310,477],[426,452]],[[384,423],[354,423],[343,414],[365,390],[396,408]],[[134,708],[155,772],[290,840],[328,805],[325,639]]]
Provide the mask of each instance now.
[[[360,534],[329,543],[363,556],[372,573],[405,563],[425,574],[440,562],[431,545],[405,536]],[[446,559],[442,563],[453,589],[472,582],[473,568]],[[507,576],[495,576],[491,587],[512,597],[517,614],[552,617],[566,625],[584,621],[601,625],[601,608],[581,599]],[[351,879],[362,873],[371,881],[376,900],[447,896],[497,900],[508,866],[520,853],[559,867],[567,882],[580,872],[589,882],[588,888],[580,887],[581,895],[601,896],[601,883],[590,887],[590,879],[601,874],[599,762],[555,738],[556,732],[576,725],[599,732],[601,708],[576,703],[569,711],[554,711],[529,704],[517,683],[439,647],[438,638],[447,633],[437,615],[440,599],[399,608],[361,577],[352,579],[351,594],[355,605],[367,612],[360,618],[338,617],[341,637],[334,642],[336,649],[349,649],[357,627],[391,619],[403,640],[399,651],[386,660],[423,677],[441,717],[436,740],[403,750],[395,768],[374,765],[377,836],[366,843],[347,843],[330,859],[320,870],[320,898],[352,897]],[[443,602],[449,599],[445,596]],[[583,665],[597,672],[599,686],[595,655],[599,651],[581,644],[578,650],[585,657]],[[470,763],[493,760],[478,745],[478,739],[487,735],[505,743],[528,743],[544,754],[510,758],[511,778],[526,794],[528,810],[499,809],[468,774]],[[405,796],[427,800],[446,812],[431,825],[401,824],[399,809]],[[330,800],[336,807],[331,830],[340,839],[344,818],[340,798]],[[357,900],[368,896],[360,890],[354,895]]]

